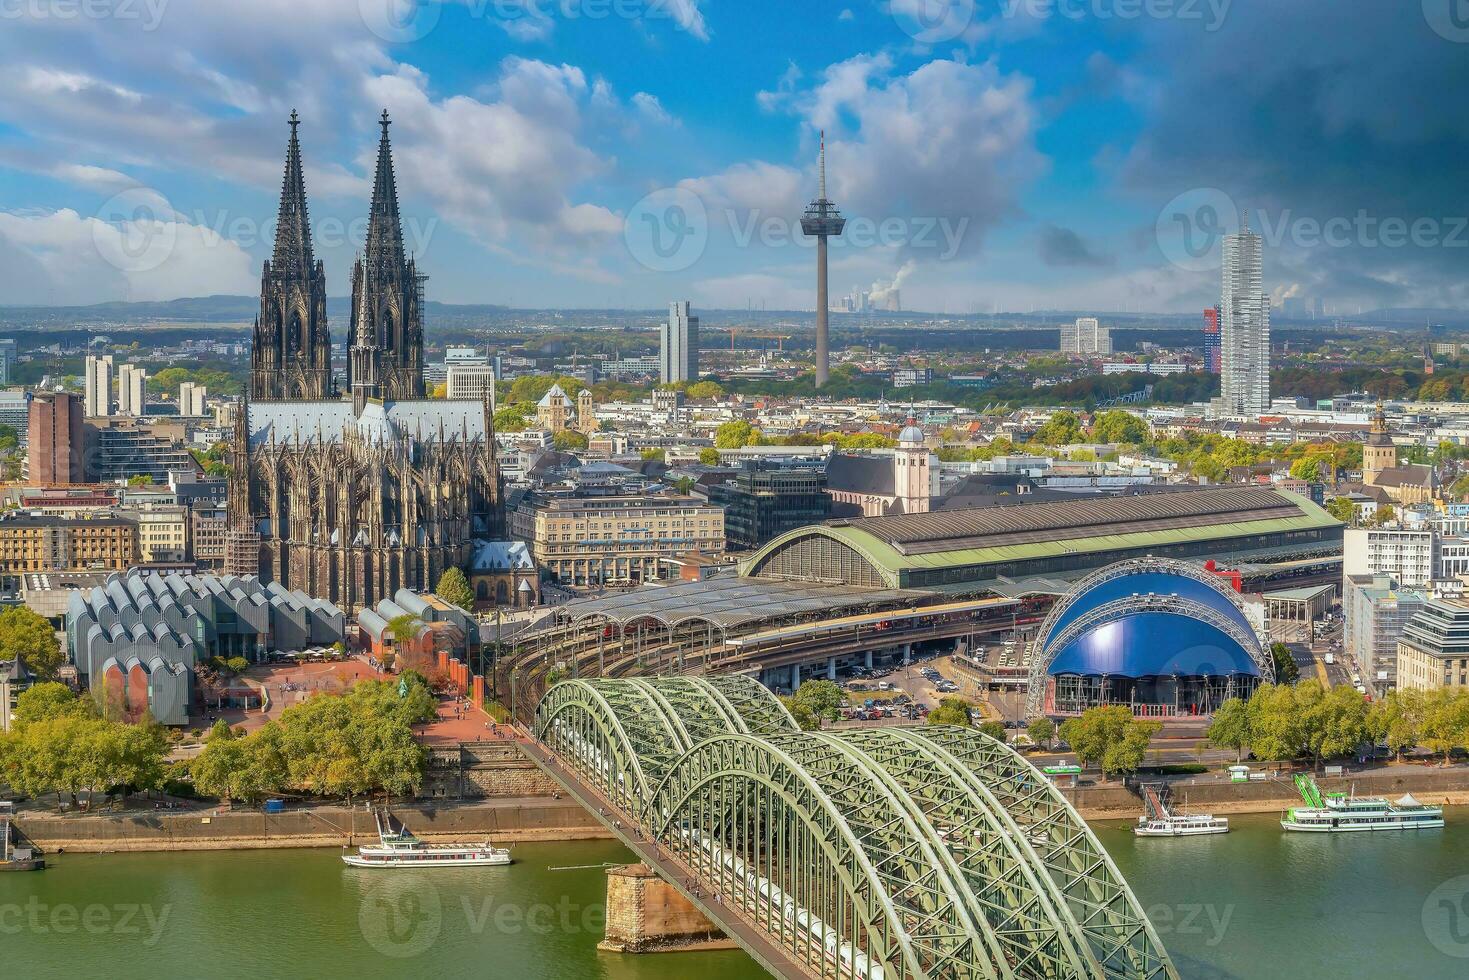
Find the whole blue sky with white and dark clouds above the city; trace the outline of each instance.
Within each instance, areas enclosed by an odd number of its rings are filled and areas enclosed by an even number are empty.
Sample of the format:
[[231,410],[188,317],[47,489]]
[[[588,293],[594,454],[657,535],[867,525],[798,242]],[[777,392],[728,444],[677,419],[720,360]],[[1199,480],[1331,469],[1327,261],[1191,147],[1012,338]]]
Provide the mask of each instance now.
[[0,3],[0,304],[253,294],[291,109],[345,294],[388,107],[450,303],[809,309],[826,129],[839,294],[1196,310],[1247,209],[1278,298],[1463,307],[1457,1]]

